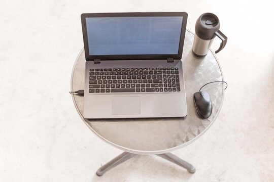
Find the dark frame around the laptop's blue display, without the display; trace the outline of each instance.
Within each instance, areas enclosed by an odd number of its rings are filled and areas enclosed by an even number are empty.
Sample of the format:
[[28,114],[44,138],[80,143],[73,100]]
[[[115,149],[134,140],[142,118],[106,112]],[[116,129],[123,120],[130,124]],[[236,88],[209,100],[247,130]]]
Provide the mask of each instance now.
[[[178,54],[146,54],[146,55],[89,55],[86,18],[89,17],[146,17],[146,16],[180,16],[183,17]],[[83,13],[81,15],[82,31],[86,61],[100,60],[144,60],[144,59],[181,59],[184,47],[187,13],[186,12],[157,12],[157,13]]]

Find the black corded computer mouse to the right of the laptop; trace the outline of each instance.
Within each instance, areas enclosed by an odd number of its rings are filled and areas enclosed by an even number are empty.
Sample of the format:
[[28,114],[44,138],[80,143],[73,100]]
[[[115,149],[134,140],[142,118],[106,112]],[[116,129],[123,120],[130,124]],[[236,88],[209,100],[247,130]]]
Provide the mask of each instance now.
[[207,92],[196,92],[193,94],[196,110],[200,117],[208,118],[212,113],[212,103]]

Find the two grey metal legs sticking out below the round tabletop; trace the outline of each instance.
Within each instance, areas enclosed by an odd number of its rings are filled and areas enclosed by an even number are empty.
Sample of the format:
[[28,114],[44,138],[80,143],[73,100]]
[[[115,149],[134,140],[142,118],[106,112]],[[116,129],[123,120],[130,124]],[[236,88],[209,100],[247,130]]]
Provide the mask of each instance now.
[[[124,162],[124,161],[126,161],[126,160],[128,160],[131,157],[134,157],[136,155],[138,155],[138,154],[132,154],[132,153],[128,153],[128,152],[123,152],[122,154],[120,154],[119,156],[115,157],[114,159],[112,159],[107,164],[101,166],[97,170],[96,174],[98,176],[101,176],[105,172],[107,172],[108,170],[112,169],[113,167],[121,164],[122,162]],[[187,171],[190,172],[190,173],[194,173],[195,172],[195,167],[192,164],[190,164],[190,163],[188,163],[188,162],[180,159],[179,157],[177,157],[176,155],[174,155],[172,153],[158,154],[157,156],[162,157],[162,158],[164,158],[164,159],[166,159],[166,160],[168,160],[170,162],[173,162],[173,163],[175,163],[175,164],[177,164],[177,165],[179,165],[179,166],[187,169]]]

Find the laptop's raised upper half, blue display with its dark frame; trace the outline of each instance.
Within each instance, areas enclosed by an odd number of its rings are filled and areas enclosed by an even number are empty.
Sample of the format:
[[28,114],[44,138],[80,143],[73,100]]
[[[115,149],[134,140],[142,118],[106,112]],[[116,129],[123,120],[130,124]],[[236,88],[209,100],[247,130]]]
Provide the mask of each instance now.
[[181,59],[187,13],[82,14],[87,61]]

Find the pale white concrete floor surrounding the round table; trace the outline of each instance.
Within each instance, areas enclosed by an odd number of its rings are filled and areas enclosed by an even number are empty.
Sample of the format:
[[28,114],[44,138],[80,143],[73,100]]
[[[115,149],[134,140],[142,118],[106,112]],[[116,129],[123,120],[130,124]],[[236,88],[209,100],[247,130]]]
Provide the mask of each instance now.
[[[0,4],[0,181],[274,181],[272,0]],[[187,12],[191,31],[202,13],[219,17],[228,37],[217,54],[229,83],[222,110],[207,133],[174,152],[195,174],[139,156],[98,177],[97,168],[122,151],[89,130],[68,94],[83,47],[80,15],[165,11]]]

